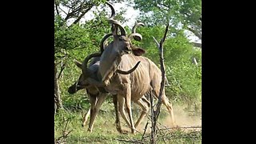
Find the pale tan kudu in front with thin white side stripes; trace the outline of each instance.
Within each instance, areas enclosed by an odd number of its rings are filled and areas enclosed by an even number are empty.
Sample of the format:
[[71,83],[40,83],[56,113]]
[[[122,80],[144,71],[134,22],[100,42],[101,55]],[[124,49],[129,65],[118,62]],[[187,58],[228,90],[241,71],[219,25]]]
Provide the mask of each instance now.
[[[113,6],[109,6],[111,10],[114,9]],[[106,91],[111,94],[118,94],[119,111],[134,134],[136,127],[142,122],[142,118],[149,110],[146,103],[142,101],[142,96],[152,90],[154,96],[158,98],[162,74],[154,62],[141,56],[146,51],[131,43],[130,38],[126,36],[126,30],[118,21],[113,18],[109,18],[108,21],[112,24],[111,31],[114,38],[113,42],[106,46],[100,57],[98,75],[101,79],[99,81],[91,80],[93,78],[88,79],[94,86],[104,86]],[[118,29],[121,35],[118,35]],[[126,75],[118,73],[118,70],[130,70],[138,62],[141,63],[134,72]],[[86,61],[84,63],[86,65]],[[137,103],[143,110],[135,125],[132,118],[131,101]],[[162,103],[170,112],[174,124],[173,109],[164,91]],[[125,114],[125,104],[129,120]]]

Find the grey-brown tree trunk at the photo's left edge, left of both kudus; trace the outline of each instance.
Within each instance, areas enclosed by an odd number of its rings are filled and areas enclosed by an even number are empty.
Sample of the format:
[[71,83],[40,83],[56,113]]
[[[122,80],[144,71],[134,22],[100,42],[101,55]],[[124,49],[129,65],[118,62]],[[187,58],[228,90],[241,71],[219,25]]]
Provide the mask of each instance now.
[[57,75],[57,66],[54,63],[54,114],[58,112],[59,109],[62,109],[62,99],[60,97],[60,91],[58,86],[58,75]]

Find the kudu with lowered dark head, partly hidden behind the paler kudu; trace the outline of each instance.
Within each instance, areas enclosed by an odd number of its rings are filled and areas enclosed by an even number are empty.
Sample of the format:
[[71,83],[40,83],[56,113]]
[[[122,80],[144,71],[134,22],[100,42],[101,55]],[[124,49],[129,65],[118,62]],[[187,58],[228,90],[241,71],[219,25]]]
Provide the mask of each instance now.
[[[109,4],[109,3],[108,3]],[[114,9],[112,9],[112,14],[110,18],[114,17]],[[141,23],[137,23],[132,31],[134,34],[134,39],[136,38],[136,34],[135,30],[137,26],[141,26]],[[107,34],[104,38],[102,38],[102,41],[100,42],[100,50],[101,53],[97,53],[97,54],[90,54],[89,56],[87,56],[84,60],[83,63],[80,63],[78,61],[74,61],[76,66],[78,66],[80,69],[82,69],[82,74],[80,75],[80,77],[78,78],[77,82],[74,82],[74,84],[72,86],[69,87],[68,92],[70,94],[74,94],[76,93],[78,90],[82,90],[82,89],[86,89],[87,94],[89,95],[89,99],[90,99],[90,123],[89,123],[89,128],[88,130],[91,132],[93,130],[93,126],[94,126],[94,120],[96,118],[96,115],[98,113],[98,110],[100,108],[100,106],[102,106],[102,102],[105,101],[106,99],[106,90],[104,90],[104,87],[102,86],[94,86],[91,85],[90,82],[88,81],[87,78],[93,78],[94,80],[99,80],[100,75],[98,75],[98,66],[99,66],[99,56],[102,54],[103,50],[104,50],[104,41],[106,40],[106,38],[109,38],[111,34]],[[136,40],[140,40],[139,38],[137,38]],[[92,61],[89,64],[89,68],[87,69],[87,62],[90,60],[90,58],[92,58]],[[128,70],[128,71],[122,71],[122,70],[118,70],[117,72],[120,74],[130,74],[132,71],[135,70],[135,68],[138,66],[139,62],[134,66],[133,69]],[[144,101],[146,101],[145,97],[142,97],[142,99]],[[113,94],[113,102],[114,102],[114,107],[115,107],[115,112],[116,112],[116,127],[118,132],[122,133],[122,128],[120,126],[120,120],[118,117],[118,102],[117,102],[117,95]],[[83,117],[83,122],[82,122],[82,126],[86,125],[86,121],[89,115],[89,111],[87,112],[87,114]]]

